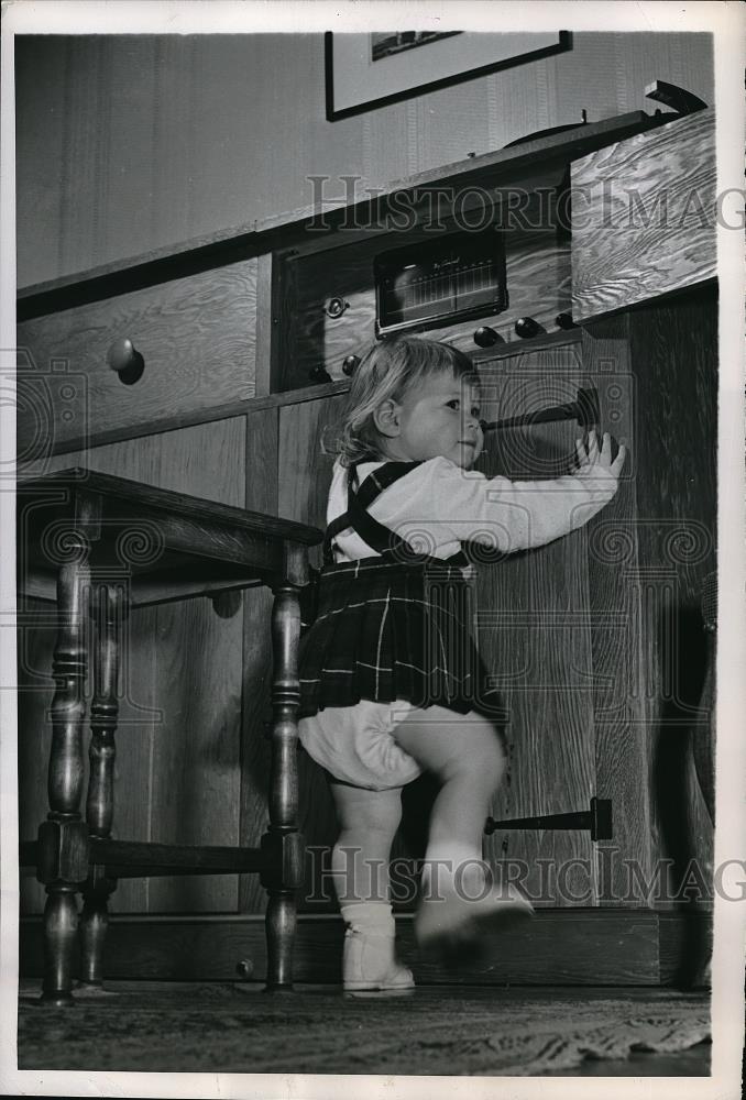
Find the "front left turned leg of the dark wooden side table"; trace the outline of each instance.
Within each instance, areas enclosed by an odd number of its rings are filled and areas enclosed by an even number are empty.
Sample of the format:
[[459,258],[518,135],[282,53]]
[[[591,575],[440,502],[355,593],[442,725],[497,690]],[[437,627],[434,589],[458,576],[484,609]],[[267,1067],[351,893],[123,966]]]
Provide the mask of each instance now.
[[89,574],[85,546],[69,543],[74,560],[57,576],[57,639],[52,673],[52,751],[50,813],[39,829],[37,878],[46,886],[44,909],[44,982],[42,998],[72,1003],[77,939],[76,892],[88,876],[88,829],[80,818],[83,794],[83,722],[85,717],[86,641]]

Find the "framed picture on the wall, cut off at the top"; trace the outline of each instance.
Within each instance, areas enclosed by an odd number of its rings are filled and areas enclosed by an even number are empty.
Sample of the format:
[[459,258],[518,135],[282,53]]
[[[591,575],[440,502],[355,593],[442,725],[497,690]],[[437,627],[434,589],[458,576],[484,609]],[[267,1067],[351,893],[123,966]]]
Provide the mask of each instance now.
[[483,34],[390,31],[325,35],[327,120],[336,122],[426,91],[571,48],[569,31]]

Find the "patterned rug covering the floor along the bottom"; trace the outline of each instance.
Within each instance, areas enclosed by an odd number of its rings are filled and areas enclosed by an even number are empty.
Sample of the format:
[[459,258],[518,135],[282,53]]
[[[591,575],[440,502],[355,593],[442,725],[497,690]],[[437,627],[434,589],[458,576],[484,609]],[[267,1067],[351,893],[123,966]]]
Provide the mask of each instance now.
[[584,1058],[680,1052],[710,1036],[709,999],[418,988],[344,996],[308,987],[160,987],[79,1000],[22,997],[19,1069],[531,1076]]

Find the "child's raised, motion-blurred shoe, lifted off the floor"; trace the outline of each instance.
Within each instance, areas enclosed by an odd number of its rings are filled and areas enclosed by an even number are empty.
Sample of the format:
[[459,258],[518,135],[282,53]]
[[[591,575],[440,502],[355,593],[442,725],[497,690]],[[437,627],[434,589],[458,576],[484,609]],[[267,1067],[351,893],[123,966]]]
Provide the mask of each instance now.
[[427,895],[415,915],[421,950],[459,963],[487,953],[489,937],[534,916],[534,906],[513,883],[493,888],[485,898],[469,899],[452,886]]

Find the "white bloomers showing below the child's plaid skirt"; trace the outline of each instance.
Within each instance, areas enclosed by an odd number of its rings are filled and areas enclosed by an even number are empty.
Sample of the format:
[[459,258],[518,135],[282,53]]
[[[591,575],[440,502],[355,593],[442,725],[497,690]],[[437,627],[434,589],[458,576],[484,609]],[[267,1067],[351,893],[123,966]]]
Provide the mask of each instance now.
[[405,787],[423,773],[392,736],[414,710],[406,700],[361,700],[354,706],[330,706],[301,718],[298,737],[306,752],[332,779],[369,791],[387,791]]

